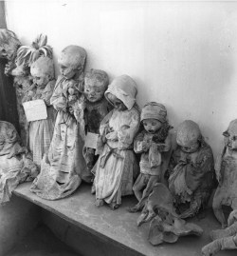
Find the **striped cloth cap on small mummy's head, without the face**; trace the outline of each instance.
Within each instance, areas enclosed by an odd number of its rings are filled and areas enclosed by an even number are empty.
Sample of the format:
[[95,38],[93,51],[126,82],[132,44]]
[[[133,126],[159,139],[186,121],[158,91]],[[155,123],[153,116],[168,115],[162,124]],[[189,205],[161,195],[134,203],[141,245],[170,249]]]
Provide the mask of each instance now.
[[140,121],[152,118],[161,123],[165,123],[167,121],[166,117],[167,110],[164,105],[156,102],[149,102],[141,109]]

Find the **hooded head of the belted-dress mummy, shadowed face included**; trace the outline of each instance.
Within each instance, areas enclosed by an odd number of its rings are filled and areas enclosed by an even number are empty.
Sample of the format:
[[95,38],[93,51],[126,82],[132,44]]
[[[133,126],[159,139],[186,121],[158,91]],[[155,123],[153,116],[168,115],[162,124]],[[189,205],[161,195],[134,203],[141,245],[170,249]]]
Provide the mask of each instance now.
[[104,96],[119,111],[131,110],[136,103],[137,84],[130,76],[120,75],[112,81]]

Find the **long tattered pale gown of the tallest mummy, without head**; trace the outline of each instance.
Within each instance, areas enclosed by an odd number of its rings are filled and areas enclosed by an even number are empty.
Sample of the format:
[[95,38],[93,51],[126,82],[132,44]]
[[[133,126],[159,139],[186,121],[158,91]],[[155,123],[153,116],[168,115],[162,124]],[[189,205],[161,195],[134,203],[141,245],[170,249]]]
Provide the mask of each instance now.
[[[82,80],[79,83],[82,83]],[[41,163],[41,173],[34,180],[30,191],[38,196],[56,200],[72,194],[82,183],[82,170],[86,167],[82,156],[84,123],[82,121],[84,98],[75,103],[75,116],[69,113],[66,91],[71,80],[60,76],[50,103],[58,111],[48,157]]]

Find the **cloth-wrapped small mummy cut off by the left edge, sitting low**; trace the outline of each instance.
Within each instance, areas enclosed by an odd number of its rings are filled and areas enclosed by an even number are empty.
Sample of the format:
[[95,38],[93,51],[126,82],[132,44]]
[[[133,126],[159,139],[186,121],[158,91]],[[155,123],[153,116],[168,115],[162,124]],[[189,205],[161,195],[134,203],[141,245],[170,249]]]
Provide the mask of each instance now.
[[32,180],[38,174],[27,148],[20,146],[16,129],[0,121],[0,204],[9,201],[18,184]]

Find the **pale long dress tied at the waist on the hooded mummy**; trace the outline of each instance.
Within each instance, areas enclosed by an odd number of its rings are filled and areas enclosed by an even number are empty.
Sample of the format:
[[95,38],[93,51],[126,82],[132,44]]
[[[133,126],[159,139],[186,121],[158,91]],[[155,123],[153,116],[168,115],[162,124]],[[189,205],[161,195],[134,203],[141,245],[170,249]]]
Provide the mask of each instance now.
[[[121,196],[133,194],[137,162],[133,141],[139,127],[137,108],[109,112],[100,125],[106,144],[96,165],[94,186],[96,198],[107,204],[121,204]],[[106,134],[108,128],[112,132]],[[106,134],[106,135],[105,135]],[[117,137],[117,139],[115,139]]]

